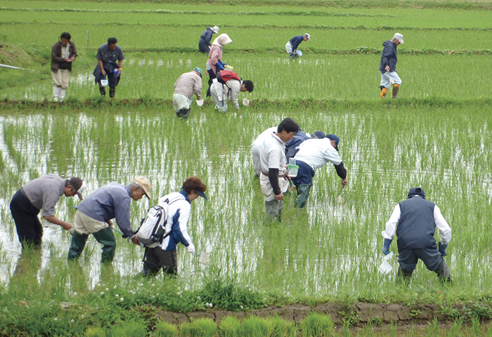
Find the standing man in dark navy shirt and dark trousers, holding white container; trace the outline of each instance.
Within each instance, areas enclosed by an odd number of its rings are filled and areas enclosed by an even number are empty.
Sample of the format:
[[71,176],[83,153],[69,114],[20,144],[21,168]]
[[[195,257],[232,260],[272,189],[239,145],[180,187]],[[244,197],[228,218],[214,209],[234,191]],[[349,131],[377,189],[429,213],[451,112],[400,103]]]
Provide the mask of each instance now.
[[93,72],[94,81],[99,84],[99,92],[103,96],[106,95],[106,89],[101,81],[108,80],[110,98],[115,97],[116,87],[122,78],[124,55],[122,48],[117,45],[117,41],[115,37],[110,37],[107,44],[99,47],[96,55],[98,65],[96,65],[96,69]]

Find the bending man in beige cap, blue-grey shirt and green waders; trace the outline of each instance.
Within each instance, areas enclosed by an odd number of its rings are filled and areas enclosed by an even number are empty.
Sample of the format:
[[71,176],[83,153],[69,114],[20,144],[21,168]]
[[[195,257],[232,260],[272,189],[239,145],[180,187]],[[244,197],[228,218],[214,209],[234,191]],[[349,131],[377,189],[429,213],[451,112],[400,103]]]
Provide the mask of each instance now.
[[115,257],[116,240],[112,233],[112,220],[122,232],[123,237],[134,244],[140,244],[136,233],[131,229],[131,199],[140,200],[144,195],[150,199],[150,181],[145,177],[136,177],[130,185],[110,183],[100,187],[77,205],[75,213],[72,243],[68,250],[68,260],[79,258],[86,245],[89,234],[103,244],[102,263],[111,263]]

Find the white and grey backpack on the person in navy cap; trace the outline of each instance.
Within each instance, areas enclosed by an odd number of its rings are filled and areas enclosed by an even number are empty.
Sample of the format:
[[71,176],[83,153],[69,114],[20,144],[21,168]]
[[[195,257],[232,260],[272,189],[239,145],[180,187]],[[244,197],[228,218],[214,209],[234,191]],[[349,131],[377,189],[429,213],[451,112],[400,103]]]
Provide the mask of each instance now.
[[149,248],[159,245],[166,237],[171,234],[171,228],[166,232],[167,216],[169,216],[169,204],[177,200],[184,200],[180,194],[169,201],[169,197],[163,197],[159,203],[148,210],[147,216],[142,220],[138,228],[136,237],[138,241]]

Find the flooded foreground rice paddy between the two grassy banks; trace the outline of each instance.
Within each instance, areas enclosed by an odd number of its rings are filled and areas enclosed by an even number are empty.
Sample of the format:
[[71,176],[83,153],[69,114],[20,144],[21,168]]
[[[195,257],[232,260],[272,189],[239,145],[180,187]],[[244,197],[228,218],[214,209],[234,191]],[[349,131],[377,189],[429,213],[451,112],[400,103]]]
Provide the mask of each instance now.
[[[164,111],[163,111],[164,110]],[[280,224],[263,222],[264,201],[254,178],[250,145],[266,128],[292,117],[306,132],[340,137],[349,185],[331,166],[316,172],[306,209],[294,209],[295,193],[285,198]],[[378,274],[384,224],[410,187],[421,186],[453,229],[448,264],[457,286],[476,292],[490,284],[491,117],[480,107],[368,108],[326,111],[306,108],[254,109],[219,114],[194,106],[178,120],[171,106],[161,108],[4,110],[0,114],[0,282],[8,284],[20,256],[8,204],[28,181],[47,173],[86,180],[85,195],[110,182],[129,184],[143,175],[153,184],[152,200],[131,203],[138,227],[159,197],[179,191],[196,174],[208,185],[209,201],[192,204],[188,223],[198,251],[210,256],[200,265],[179,247],[180,281],[200,287],[212,271],[259,291],[287,296],[384,294],[394,275]],[[75,198],[60,197],[56,212],[72,220]],[[51,261],[65,263],[70,234],[46,227],[39,277]],[[143,249],[117,237],[115,272],[134,277]],[[396,244],[391,247],[396,253]],[[89,288],[101,275],[101,249],[89,238],[79,260]],[[396,267],[396,260],[393,260]],[[419,265],[413,286],[437,283]]]

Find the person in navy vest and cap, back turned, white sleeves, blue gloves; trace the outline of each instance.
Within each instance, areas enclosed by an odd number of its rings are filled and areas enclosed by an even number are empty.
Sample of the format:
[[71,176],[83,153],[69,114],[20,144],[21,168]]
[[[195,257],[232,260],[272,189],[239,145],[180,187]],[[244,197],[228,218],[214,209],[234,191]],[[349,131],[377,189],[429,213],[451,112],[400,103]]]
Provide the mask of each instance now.
[[[434,234],[436,227],[441,234],[441,242],[436,244]],[[446,256],[446,247],[451,241],[451,228],[434,202],[425,199],[421,187],[413,187],[406,200],[394,208],[391,218],[386,223],[382,252],[389,254],[389,245],[396,233],[398,244],[398,275],[409,279],[417,266],[418,259],[425,263],[428,270],[436,272],[442,282],[451,282]]]

